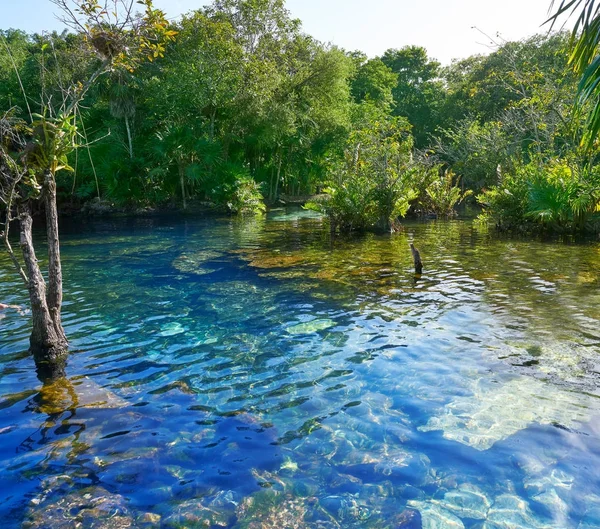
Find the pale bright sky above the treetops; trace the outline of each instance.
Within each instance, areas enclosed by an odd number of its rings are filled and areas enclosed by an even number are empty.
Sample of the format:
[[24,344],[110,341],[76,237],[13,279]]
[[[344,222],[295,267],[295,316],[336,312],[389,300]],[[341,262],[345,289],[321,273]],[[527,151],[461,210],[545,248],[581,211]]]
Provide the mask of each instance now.
[[[154,0],[169,18],[206,3]],[[286,5],[302,20],[304,31],[323,42],[370,57],[414,44],[450,64],[452,59],[488,53],[491,39],[502,42],[545,32],[541,25],[550,0],[287,0]],[[50,0],[0,0],[0,29],[61,29],[55,12]]]

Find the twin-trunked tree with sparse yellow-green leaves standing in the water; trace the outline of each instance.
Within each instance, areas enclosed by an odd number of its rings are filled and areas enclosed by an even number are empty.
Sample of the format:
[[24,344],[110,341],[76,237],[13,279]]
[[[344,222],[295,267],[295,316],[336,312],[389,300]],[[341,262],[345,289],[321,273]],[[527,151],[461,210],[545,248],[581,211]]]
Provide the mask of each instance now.
[[[84,82],[59,76],[62,97],[58,104],[51,98],[44,100],[41,93],[44,113],[31,115],[27,122],[9,111],[0,127],[0,198],[6,210],[3,241],[29,291],[33,320],[30,350],[41,376],[61,375],[67,355],[61,322],[63,277],[56,173],[69,168],[67,156],[76,146],[78,106],[101,75],[113,68],[132,70],[143,60],[158,57],[164,51],[165,40],[174,35],[151,0],[142,1],[145,13],[139,16],[133,14],[133,0],[106,0],[102,5],[93,0],[53,2],[95,52],[91,73]],[[46,212],[47,284],[33,244],[31,209],[35,200],[42,202]],[[24,266],[8,237],[15,210]]]

